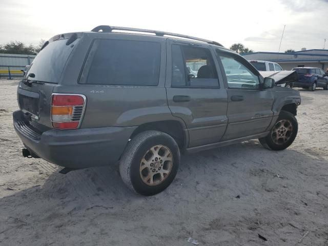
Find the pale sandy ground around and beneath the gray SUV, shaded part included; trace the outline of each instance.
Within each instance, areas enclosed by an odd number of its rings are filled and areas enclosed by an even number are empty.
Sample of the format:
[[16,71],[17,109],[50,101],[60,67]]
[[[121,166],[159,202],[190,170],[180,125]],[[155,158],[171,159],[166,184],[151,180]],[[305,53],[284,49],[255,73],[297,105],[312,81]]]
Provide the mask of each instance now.
[[251,140],[182,156],[172,185],[142,197],[117,166],[62,175],[23,158],[16,87],[0,80],[0,245],[328,245],[328,91],[300,90],[289,149]]

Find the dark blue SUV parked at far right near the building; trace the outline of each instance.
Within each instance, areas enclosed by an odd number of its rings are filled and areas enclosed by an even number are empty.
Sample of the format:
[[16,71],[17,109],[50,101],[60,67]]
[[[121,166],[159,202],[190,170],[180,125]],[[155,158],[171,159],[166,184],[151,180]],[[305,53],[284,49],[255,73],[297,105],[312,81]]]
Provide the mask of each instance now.
[[315,91],[317,87],[328,90],[328,74],[320,68],[304,67],[293,68],[298,74],[298,80],[294,82],[294,87],[301,87]]

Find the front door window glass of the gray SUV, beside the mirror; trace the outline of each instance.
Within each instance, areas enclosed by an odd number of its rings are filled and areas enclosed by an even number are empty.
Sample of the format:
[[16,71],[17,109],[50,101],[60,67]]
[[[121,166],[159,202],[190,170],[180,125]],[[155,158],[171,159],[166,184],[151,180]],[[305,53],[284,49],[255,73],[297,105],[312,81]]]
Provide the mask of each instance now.
[[228,87],[231,89],[258,89],[259,78],[233,56],[218,54],[224,72],[226,72]]

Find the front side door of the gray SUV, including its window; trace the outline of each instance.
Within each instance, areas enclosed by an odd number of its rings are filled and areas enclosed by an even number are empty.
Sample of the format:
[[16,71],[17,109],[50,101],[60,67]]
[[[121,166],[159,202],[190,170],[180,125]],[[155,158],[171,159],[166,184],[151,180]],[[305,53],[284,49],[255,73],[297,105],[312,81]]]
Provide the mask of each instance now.
[[228,92],[229,119],[222,140],[265,132],[273,118],[273,89],[260,90],[259,72],[247,60],[216,49]]

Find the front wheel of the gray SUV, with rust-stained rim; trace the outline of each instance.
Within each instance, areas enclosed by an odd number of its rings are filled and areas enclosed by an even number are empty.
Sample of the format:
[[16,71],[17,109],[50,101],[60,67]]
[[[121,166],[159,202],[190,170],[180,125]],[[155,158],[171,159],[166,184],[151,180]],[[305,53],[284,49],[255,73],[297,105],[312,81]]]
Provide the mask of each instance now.
[[298,123],[296,117],[287,111],[281,111],[276,124],[268,136],[260,138],[261,145],[270,150],[284,150],[296,138]]

